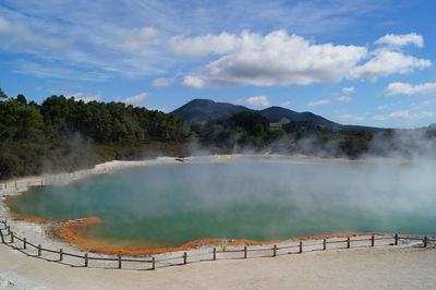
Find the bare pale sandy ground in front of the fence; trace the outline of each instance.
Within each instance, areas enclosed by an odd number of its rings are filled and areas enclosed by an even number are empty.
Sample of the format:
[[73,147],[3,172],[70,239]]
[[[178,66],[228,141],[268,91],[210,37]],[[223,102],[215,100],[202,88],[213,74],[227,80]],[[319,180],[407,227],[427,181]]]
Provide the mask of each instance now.
[[434,289],[435,262],[436,249],[380,246],[117,270],[69,267],[0,244],[0,288]]

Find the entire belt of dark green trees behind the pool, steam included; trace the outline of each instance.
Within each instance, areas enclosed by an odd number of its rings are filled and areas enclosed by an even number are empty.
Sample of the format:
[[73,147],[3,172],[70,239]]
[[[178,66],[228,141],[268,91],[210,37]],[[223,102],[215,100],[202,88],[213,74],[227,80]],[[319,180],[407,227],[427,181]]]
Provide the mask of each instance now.
[[330,125],[320,117],[317,122],[281,118],[271,124],[262,112],[239,111],[198,122],[123,102],[51,96],[38,105],[23,95],[8,98],[1,89],[0,95],[0,180],[73,171],[113,159],[185,156],[192,154],[193,143],[211,153],[349,158],[436,153],[436,126],[403,130],[398,137],[398,130]]

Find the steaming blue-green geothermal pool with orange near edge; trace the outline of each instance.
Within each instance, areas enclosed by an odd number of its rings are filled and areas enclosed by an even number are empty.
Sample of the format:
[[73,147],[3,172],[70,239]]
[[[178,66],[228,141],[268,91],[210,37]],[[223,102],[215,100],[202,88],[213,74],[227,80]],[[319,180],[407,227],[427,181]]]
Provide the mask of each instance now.
[[434,168],[400,165],[183,164],[33,189],[14,214],[97,216],[87,232],[113,246],[203,238],[274,240],[337,231],[436,234]]

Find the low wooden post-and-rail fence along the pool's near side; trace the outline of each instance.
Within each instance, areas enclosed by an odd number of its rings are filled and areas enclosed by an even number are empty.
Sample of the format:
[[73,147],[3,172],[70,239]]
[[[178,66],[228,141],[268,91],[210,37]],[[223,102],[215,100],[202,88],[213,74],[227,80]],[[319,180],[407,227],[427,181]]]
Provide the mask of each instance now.
[[[247,245],[244,245],[243,249],[235,250],[217,250],[217,247],[207,249],[207,252],[199,253],[191,253],[183,252],[182,255],[170,256],[170,257],[159,257],[156,256],[147,256],[146,258],[132,258],[132,257],[123,257],[121,255],[114,257],[101,257],[101,256],[89,256],[89,253],[84,253],[83,255],[66,253],[63,249],[51,250],[43,247],[40,244],[34,244],[28,242],[26,238],[22,238],[16,235],[12,230],[11,226],[8,225],[7,220],[0,220],[2,227],[0,228],[0,238],[3,244],[10,245],[11,247],[23,252],[28,256],[35,256],[39,258],[44,258],[51,262],[58,262],[61,264],[66,264],[73,267],[89,267],[89,262],[113,262],[113,266],[111,268],[125,268],[123,265],[125,263],[134,263],[136,265],[144,265],[144,267],[135,267],[134,269],[146,269],[146,270],[155,270],[158,267],[168,267],[175,265],[187,265],[196,262],[204,261],[218,261],[218,259],[245,259],[249,258],[249,253],[261,253],[266,252],[266,255],[252,255],[251,257],[276,257],[278,255],[288,255],[288,254],[302,254],[305,252],[314,252],[314,251],[326,251],[328,249],[351,249],[352,243],[360,243],[360,247],[374,247],[377,245],[398,245],[400,241],[416,241],[417,246],[427,247],[429,244],[436,244],[436,237],[434,235],[410,235],[410,234],[372,234],[368,235],[367,239],[362,237],[356,237],[358,239],[351,239],[351,237],[346,237],[343,240],[336,240],[341,238],[329,238],[322,239],[322,242],[314,241],[317,240],[305,240],[304,242],[296,241],[296,244],[293,245],[282,245],[278,246],[277,244],[271,247],[252,247],[250,249]],[[20,243],[17,242],[20,241]],[[384,241],[385,243],[380,243],[379,241]],[[386,243],[388,242],[388,243]],[[364,243],[364,244],[362,244]],[[335,245],[338,245],[335,246]],[[334,246],[328,246],[334,245]],[[358,246],[358,245],[356,245]],[[32,253],[32,249],[34,252]],[[211,251],[210,251],[211,250]],[[286,251],[283,251],[286,250]],[[44,253],[49,253],[51,256],[44,256]],[[239,255],[239,253],[241,253]],[[230,254],[230,256],[228,256]],[[46,254],[47,255],[47,254]],[[203,258],[198,258],[202,256]],[[75,258],[75,262],[66,262],[66,257]],[[94,267],[97,267],[96,265]]]

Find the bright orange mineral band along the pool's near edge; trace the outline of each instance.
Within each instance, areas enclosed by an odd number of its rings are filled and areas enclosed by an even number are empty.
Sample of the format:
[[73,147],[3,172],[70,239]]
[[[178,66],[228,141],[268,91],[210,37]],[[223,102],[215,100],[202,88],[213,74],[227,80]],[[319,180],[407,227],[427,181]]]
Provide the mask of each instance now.
[[[17,216],[14,215],[13,218],[20,220],[29,220],[34,222],[40,223],[58,223],[62,225],[56,226],[51,233],[60,239],[63,242],[71,243],[75,247],[82,251],[88,252],[98,252],[110,255],[129,255],[129,256],[141,256],[148,254],[159,254],[165,252],[174,252],[174,251],[185,251],[189,249],[195,249],[202,245],[219,245],[222,242],[222,239],[210,238],[210,239],[198,239],[194,241],[186,242],[179,246],[159,246],[156,244],[137,244],[137,245],[129,245],[129,246],[112,246],[109,242],[105,242],[104,240],[98,239],[98,243],[95,239],[90,239],[87,237],[87,231],[92,227],[96,227],[101,222],[99,217],[86,217],[73,220],[59,220],[59,219],[45,219],[38,217],[28,217],[28,216]],[[378,234],[373,232],[336,232],[336,233],[326,233],[326,234],[317,234],[311,237],[298,237],[291,238],[287,240],[314,240],[314,239],[327,239],[327,238],[341,238],[341,237],[353,237],[353,235],[371,235]],[[270,240],[270,241],[251,241],[251,240],[228,240],[228,244],[251,244],[251,245],[262,245],[262,244],[275,244],[280,243],[286,240]]]

